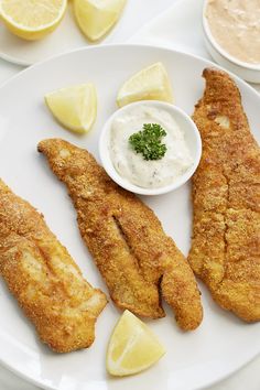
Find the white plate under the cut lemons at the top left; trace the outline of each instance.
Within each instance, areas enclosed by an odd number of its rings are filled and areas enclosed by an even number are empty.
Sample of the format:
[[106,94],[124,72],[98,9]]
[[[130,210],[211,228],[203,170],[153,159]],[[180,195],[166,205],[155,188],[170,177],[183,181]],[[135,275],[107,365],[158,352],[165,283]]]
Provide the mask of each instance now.
[[[172,0],[128,0],[121,18],[100,43],[124,42],[152,18],[172,4]],[[145,12],[143,12],[145,10]],[[77,28],[72,4],[59,26],[41,41],[28,42],[11,34],[0,24],[0,57],[19,65],[31,65],[53,55],[90,46]]]

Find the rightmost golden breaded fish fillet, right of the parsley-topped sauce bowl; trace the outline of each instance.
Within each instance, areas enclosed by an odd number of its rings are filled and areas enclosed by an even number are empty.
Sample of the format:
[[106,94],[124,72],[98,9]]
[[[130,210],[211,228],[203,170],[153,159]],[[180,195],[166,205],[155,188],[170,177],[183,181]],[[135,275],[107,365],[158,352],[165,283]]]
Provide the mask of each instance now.
[[188,261],[214,300],[247,322],[260,319],[260,149],[234,80],[207,68],[194,117],[203,156],[193,177]]

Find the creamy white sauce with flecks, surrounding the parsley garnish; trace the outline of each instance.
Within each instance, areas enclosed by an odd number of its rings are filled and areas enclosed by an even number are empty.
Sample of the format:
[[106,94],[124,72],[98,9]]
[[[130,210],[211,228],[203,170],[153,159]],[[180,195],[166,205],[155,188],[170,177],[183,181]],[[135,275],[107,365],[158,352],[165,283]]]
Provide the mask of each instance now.
[[[144,123],[158,123],[165,131],[166,152],[160,160],[144,160],[129,143],[129,137]],[[131,107],[111,123],[110,158],[120,176],[143,188],[160,188],[174,183],[193,164],[184,133],[166,109],[149,105]]]

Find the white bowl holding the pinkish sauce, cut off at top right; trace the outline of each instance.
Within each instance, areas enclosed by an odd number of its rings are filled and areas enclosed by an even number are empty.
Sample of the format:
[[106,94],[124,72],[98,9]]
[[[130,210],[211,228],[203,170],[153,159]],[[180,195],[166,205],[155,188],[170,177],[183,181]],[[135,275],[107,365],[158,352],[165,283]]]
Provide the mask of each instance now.
[[207,3],[208,0],[205,0],[203,7],[203,32],[207,51],[216,63],[223,67],[229,69],[247,82],[260,83],[260,64],[248,64],[234,57],[215,41],[206,18]]

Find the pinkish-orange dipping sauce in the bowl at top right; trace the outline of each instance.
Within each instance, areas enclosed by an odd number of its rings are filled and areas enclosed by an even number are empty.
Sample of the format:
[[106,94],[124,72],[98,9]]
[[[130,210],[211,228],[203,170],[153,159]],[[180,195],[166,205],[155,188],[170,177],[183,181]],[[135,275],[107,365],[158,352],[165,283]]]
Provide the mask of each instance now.
[[260,64],[260,0],[208,0],[208,26],[231,56]]

